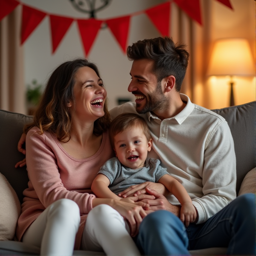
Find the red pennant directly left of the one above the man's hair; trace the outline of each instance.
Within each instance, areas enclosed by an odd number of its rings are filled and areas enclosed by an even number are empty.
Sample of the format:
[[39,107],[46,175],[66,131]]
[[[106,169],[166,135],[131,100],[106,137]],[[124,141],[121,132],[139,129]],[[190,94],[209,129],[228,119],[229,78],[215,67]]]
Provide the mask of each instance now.
[[130,16],[106,20],[106,23],[108,24],[108,27],[112,31],[117,42],[122,47],[123,52],[126,53],[127,38],[130,27]]

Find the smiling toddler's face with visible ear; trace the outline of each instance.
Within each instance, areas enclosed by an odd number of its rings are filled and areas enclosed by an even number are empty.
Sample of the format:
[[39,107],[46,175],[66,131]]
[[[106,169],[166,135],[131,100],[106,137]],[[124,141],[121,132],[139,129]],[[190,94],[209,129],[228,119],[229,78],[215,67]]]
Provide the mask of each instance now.
[[116,157],[124,166],[131,169],[144,166],[151,145],[152,139],[148,142],[140,127],[123,131],[114,137]]

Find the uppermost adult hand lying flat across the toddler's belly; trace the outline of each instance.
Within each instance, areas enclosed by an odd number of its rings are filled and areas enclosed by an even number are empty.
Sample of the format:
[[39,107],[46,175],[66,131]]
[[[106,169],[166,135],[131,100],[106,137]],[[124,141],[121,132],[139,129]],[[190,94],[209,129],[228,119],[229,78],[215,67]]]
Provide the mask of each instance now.
[[162,195],[168,195],[169,193],[169,191],[166,189],[166,187],[163,184],[146,181],[139,185],[128,187],[128,189],[125,189],[122,192],[120,192],[118,196],[123,198],[131,197],[131,196],[136,197],[137,195],[146,194],[146,188],[155,190]]

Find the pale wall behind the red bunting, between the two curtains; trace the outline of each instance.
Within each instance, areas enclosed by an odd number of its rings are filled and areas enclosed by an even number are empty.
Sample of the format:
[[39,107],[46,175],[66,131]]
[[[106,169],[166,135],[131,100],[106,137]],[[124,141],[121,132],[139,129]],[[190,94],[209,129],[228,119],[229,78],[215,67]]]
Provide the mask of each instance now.
[[[87,14],[76,11],[69,0],[21,0],[32,8],[38,8],[50,14],[75,18],[88,18]],[[96,14],[98,19],[114,18],[142,11],[165,2],[165,0],[112,0],[110,5]],[[145,38],[158,37],[160,34],[145,14],[131,17],[128,45]],[[52,55],[49,17],[24,43],[25,83],[33,79],[45,83],[53,69],[64,61],[84,56],[82,42],[76,22],[73,22]],[[131,61],[122,52],[110,30],[101,29],[88,56],[101,72],[108,92],[109,109],[117,105],[117,98],[131,98],[127,87],[130,83]]]

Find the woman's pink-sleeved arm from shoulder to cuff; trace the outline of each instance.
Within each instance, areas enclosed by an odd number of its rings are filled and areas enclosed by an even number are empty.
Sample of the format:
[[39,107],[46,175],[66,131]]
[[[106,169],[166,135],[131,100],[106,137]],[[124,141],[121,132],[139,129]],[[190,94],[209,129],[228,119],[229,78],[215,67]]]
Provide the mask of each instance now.
[[[46,136],[46,133],[40,135],[38,130],[38,128],[32,128],[27,133],[29,190],[25,190],[26,194],[24,195],[38,198],[46,208],[58,199],[68,198],[78,204],[81,214],[87,214],[92,209],[92,200],[95,195],[67,190],[64,187],[52,141]],[[64,162],[61,164],[65,165]],[[35,190],[35,194],[31,190]]]

